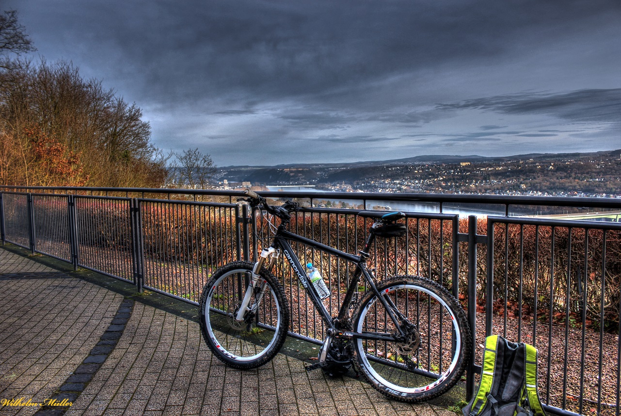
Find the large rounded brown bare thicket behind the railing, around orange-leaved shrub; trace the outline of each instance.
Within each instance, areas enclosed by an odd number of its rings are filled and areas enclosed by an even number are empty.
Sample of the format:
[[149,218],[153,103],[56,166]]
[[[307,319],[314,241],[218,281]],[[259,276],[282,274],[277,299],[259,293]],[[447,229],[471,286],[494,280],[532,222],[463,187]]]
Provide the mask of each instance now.
[[151,129],[136,104],[118,98],[101,81],[85,80],[70,63],[35,66],[16,61],[0,88],[0,182],[35,185],[32,137],[40,128],[50,141],[79,155],[86,185],[149,187],[165,184],[166,156],[150,142]]

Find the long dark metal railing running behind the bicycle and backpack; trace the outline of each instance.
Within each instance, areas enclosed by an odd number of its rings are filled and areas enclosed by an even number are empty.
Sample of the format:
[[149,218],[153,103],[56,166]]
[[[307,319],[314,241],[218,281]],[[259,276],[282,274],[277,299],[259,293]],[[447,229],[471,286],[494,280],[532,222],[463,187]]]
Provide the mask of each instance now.
[[[252,261],[270,234],[268,220],[235,203],[235,191],[143,188],[0,187],[0,238],[184,302],[197,304],[218,267]],[[378,240],[378,279],[415,274],[445,285],[468,311],[476,351],[466,392],[481,371],[484,337],[497,333],[534,344],[540,392],[553,414],[619,415],[621,392],[621,224],[528,218],[529,212],[619,210],[612,198],[492,195],[261,192],[311,206],[291,229],[347,252],[364,244],[360,209],[406,211],[404,238]],[[150,196],[150,197],[149,197]],[[401,204],[401,205],[400,205]],[[402,204],[413,207],[403,209]],[[562,208],[561,208],[562,207]],[[355,210],[351,208],[357,208]],[[420,208],[420,210],[418,209]],[[558,210],[556,210],[558,208]],[[456,209],[499,216],[460,217]],[[556,210],[556,211],[555,211]],[[424,211],[424,212],[421,212]],[[431,211],[431,212],[429,212]],[[452,212],[452,213],[451,213]],[[333,314],[353,269],[301,244],[301,261],[320,266]],[[324,339],[322,321],[291,270],[276,265],[289,297],[290,335]],[[366,288],[361,285],[360,292]]]

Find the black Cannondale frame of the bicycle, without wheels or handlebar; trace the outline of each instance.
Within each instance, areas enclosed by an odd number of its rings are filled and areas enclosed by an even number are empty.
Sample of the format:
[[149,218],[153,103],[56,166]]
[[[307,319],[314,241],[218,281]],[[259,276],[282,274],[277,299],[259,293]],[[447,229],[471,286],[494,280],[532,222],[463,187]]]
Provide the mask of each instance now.
[[[365,247],[367,249],[373,243],[374,238],[375,236],[373,234],[369,234],[369,238],[367,238],[367,241],[365,244]],[[392,303],[392,300],[390,298],[384,297],[382,294],[379,293],[377,287],[375,286],[375,282],[373,281],[373,277],[371,276],[371,274],[369,274],[369,271],[366,269],[366,257],[368,257],[368,256],[365,256],[366,251],[361,251],[361,254],[362,254],[361,256],[355,256],[354,254],[340,251],[333,247],[326,246],[325,244],[318,243],[317,241],[308,239],[306,237],[299,236],[298,234],[291,233],[291,231],[284,229],[284,226],[281,225],[279,226],[278,231],[276,231],[276,234],[274,235],[274,241],[272,243],[272,246],[274,248],[280,248],[283,251],[284,257],[287,259],[287,261],[289,262],[289,265],[291,266],[293,271],[296,273],[297,278],[300,280],[300,283],[306,290],[307,294],[311,297],[311,302],[313,303],[313,305],[315,305],[315,308],[317,308],[324,322],[326,323],[326,325],[329,326],[330,330],[334,331],[334,333],[337,335],[345,336],[347,338],[363,338],[365,340],[394,341],[394,337],[392,335],[384,335],[381,333],[370,333],[370,332],[358,333],[358,332],[353,332],[349,330],[343,331],[341,330],[341,328],[336,328],[335,320],[332,317],[330,317],[330,313],[325,308],[324,303],[319,298],[319,295],[317,295],[317,291],[313,287],[311,280],[309,280],[308,275],[306,274],[306,269],[302,267],[302,264],[300,263],[295,252],[291,248],[291,245],[289,244],[288,240],[296,241],[297,243],[302,243],[307,246],[311,246],[314,249],[328,252],[330,254],[333,254],[334,256],[340,257],[342,259],[345,259],[347,261],[350,261],[356,264],[356,272],[353,275],[353,279],[351,279],[350,281],[350,284],[347,288],[347,292],[345,293],[345,298],[343,298],[343,304],[341,305],[341,308],[338,311],[338,317],[337,317],[338,321],[344,322],[345,320],[347,320],[351,298],[353,298],[353,294],[356,292],[356,289],[358,289],[358,282],[360,281],[360,275],[363,275],[365,277],[367,284],[371,288],[371,290],[373,290],[375,295],[379,298],[380,302],[383,304],[384,308],[386,308],[386,311],[388,312],[388,315],[391,317],[392,321],[394,322],[395,327],[397,328],[397,331],[399,331],[399,333],[402,336],[404,335],[403,331],[401,330],[399,319],[405,320],[406,317],[404,317],[397,310],[397,308],[395,307],[394,303]],[[399,319],[397,319],[396,314],[399,316]]]

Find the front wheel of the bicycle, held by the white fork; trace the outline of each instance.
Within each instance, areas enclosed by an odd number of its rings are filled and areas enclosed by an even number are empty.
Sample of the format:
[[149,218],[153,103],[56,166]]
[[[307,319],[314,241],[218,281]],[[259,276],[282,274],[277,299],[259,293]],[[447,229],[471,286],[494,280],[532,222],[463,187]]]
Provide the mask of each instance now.
[[250,299],[250,312],[235,317],[252,279],[251,262],[233,262],[216,270],[201,296],[201,330],[217,358],[239,369],[270,361],[283,346],[289,326],[289,308],[283,289],[268,270]]

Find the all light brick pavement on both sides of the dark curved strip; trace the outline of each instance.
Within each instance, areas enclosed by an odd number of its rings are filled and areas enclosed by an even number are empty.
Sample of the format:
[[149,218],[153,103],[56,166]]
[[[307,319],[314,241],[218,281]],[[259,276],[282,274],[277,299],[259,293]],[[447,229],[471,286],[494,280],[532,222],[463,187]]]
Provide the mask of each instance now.
[[[123,297],[6,253],[0,247],[0,399],[42,400],[88,356]],[[361,379],[307,372],[291,354],[232,369],[212,356],[195,321],[145,304],[153,296],[134,297],[116,347],[65,415],[455,415],[388,400]],[[289,340],[286,349],[296,344],[306,343]],[[0,407],[3,415],[34,411]]]

